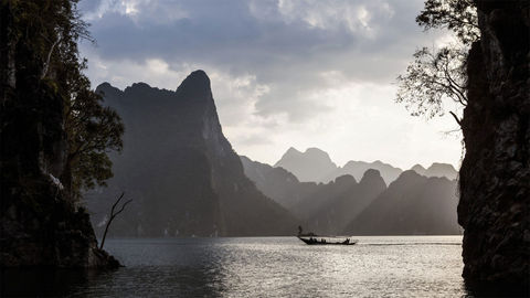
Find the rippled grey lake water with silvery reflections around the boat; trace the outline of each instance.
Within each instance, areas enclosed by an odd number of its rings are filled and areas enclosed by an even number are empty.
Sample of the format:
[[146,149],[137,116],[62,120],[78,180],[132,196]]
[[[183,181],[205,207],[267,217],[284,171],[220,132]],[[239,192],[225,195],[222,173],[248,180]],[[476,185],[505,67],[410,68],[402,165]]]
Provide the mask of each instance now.
[[3,295],[84,297],[463,297],[462,236],[107,240],[108,273],[4,272]]

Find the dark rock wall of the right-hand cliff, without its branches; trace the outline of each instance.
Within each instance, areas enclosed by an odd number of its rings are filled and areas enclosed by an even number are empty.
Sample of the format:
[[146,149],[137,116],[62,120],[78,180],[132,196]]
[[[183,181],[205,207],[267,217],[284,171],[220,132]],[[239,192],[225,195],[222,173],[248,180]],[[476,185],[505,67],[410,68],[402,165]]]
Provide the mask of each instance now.
[[466,156],[459,172],[464,277],[528,285],[530,4],[475,3],[481,39],[468,58]]

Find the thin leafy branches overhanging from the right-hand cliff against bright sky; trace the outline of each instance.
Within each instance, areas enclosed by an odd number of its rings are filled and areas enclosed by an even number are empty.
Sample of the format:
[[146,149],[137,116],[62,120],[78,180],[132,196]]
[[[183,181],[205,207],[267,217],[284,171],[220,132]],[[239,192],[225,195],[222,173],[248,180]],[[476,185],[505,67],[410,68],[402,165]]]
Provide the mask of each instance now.
[[[473,0],[427,0],[416,22],[425,31],[447,29],[458,38],[457,44],[417,50],[405,74],[398,76],[395,102],[413,116],[432,118],[444,115],[444,99],[467,104],[466,61],[468,46],[480,38],[478,19]],[[449,114],[460,125],[456,114]]]

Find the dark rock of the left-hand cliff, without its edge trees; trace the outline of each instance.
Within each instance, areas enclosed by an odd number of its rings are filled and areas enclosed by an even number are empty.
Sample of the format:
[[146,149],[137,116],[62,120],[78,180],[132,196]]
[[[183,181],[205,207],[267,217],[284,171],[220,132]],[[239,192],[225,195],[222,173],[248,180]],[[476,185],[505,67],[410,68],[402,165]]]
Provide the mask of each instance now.
[[[30,4],[32,10],[25,10]],[[57,74],[66,63],[60,60],[53,65],[45,64],[43,51],[49,50],[42,41],[53,39],[46,26],[53,28],[53,32],[64,34],[67,45],[62,44],[62,51],[77,53],[72,40],[74,34],[68,31],[74,19],[71,9],[68,1],[2,1],[0,4],[2,269],[119,265],[97,248],[88,214],[64,191],[60,180],[67,177],[64,103],[70,97],[65,99],[66,83]],[[35,15],[46,21],[36,22]],[[77,73],[80,68],[74,71]]]

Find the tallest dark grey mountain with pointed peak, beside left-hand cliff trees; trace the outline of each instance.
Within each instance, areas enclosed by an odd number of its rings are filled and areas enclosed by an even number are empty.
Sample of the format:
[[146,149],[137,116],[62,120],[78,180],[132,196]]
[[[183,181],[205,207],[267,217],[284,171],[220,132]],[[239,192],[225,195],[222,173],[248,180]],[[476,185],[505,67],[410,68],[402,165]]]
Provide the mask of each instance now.
[[243,173],[240,157],[222,134],[210,79],[191,73],[176,92],[139,83],[124,92],[102,84],[108,105],[121,115],[123,155],[105,200],[88,200],[95,223],[125,191],[130,209],[112,235],[245,236],[293,234],[297,223]]

